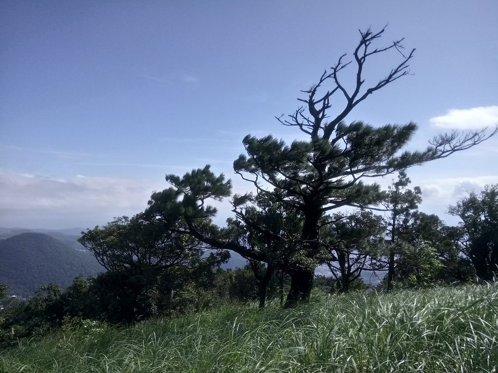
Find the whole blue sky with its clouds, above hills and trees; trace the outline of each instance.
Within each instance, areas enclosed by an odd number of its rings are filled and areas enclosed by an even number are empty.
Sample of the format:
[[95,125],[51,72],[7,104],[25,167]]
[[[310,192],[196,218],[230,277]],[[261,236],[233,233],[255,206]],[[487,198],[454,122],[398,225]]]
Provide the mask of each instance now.
[[[2,1],[0,227],[92,228],[143,211],[165,174],[206,164],[234,182],[242,139],[303,138],[274,116],[356,47],[404,37],[412,75],[346,118],[414,121],[410,149],[498,123],[498,1]],[[400,62],[373,58],[374,85]],[[352,67],[341,77],[351,87]],[[335,113],[334,108],[331,114]],[[498,183],[498,136],[407,171],[420,210]],[[395,175],[378,180],[390,184]],[[231,216],[219,206],[219,224]]]

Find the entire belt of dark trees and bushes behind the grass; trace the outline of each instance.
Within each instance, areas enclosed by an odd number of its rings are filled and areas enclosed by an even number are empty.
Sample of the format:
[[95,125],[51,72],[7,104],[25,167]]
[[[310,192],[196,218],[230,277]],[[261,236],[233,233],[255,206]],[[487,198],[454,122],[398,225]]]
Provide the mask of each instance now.
[[[243,140],[246,154],[234,171],[253,189],[232,194],[232,183],[210,166],[152,193],[147,208],[84,232],[79,239],[106,269],[66,290],[48,285],[0,319],[11,335],[29,335],[71,318],[131,322],[195,312],[225,301],[276,299],[285,307],[310,299],[313,282],[328,292],[364,287],[362,273],[399,287],[492,280],[498,265],[498,186],[471,193],[449,212],[459,227],[418,211],[419,187],[406,170],[478,145],[498,132],[486,129],[440,134],[423,151],[402,151],[417,126],[374,127],[345,118],[367,97],[408,75],[414,49],[402,40],[374,47],[385,29],[361,32],[352,60],[346,55],[303,91],[302,106],[278,121],[297,127],[306,140],[290,145],[271,135]],[[378,55],[400,56],[378,83],[365,87],[364,67]],[[355,66],[353,85],[341,72]],[[328,88],[327,88],[327,87]],[[387,190],[375,178],[396,175]],[[234,216],[220,227],[211,201],[229,201]],[[348,207],[350,212],[344,212]],[[235,252],[248,266],[223,271]],[[315,279],[326,265],[330,278]],[[285,294],[284,294],[285,291]],[[17,317],[17,319],[16,319]],[[17,328],[17,330],[15,329]],[[4,334],[4,338],[9,337]]]

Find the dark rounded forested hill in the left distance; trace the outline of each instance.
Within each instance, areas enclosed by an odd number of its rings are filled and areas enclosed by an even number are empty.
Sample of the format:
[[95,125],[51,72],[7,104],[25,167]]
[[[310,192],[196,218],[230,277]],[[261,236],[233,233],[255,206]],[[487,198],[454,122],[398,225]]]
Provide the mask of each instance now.
[[[10,236],[10,233],[2,235]],[[104,272],[92,254],[78,246],[77,237],[28,232],[1,239],[0,283],[6,283],[11,294],[29,297],[40,285],[67,286],[79,274],[90,276]]]

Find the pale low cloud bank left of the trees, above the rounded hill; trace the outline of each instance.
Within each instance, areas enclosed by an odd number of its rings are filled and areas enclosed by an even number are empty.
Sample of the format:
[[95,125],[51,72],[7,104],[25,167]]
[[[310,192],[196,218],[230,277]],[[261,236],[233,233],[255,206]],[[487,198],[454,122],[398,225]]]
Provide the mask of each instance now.
[[143,211],[164,182],[140,179],[0,174],[0,226],[93,227]]

